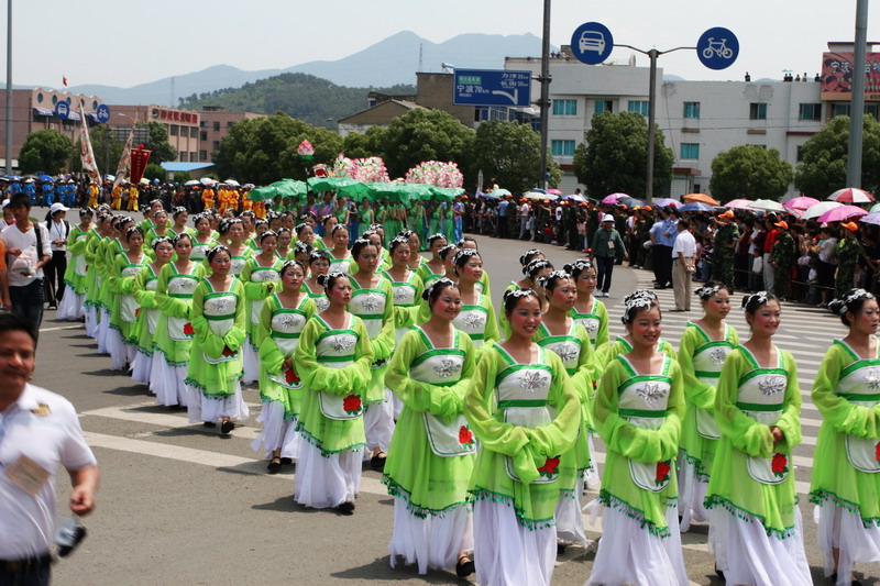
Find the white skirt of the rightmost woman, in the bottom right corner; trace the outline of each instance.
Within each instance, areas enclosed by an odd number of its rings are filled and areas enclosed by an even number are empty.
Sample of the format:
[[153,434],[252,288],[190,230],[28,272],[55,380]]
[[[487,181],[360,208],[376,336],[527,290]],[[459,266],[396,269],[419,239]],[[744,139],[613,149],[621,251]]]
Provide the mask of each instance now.
[[[818,548],[825,577],[837,572],[836,586],[849,586],[855,564],[880,562],[880,527],[866,528],[858,513],[838,507],[832,500],[817,506],[814,518],[818,523]],[[836,570],[832,551],[835,548],[840,550]]]

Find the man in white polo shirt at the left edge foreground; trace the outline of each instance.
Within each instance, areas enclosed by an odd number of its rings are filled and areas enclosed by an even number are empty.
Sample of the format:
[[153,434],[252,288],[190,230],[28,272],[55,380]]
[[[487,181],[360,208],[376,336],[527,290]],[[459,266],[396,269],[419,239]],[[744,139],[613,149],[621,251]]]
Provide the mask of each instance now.
[[0,314],[0,584],[50,583],[58,464],[70,475],[75,515],[94,510],[99,483],[74,406],[29,383],[35,352],[36,328]]

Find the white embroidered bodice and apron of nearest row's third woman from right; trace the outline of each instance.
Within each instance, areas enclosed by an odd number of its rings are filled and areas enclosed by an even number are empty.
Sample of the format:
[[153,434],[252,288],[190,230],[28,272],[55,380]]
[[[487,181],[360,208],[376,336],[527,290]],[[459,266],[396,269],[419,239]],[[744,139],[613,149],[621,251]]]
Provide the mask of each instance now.
[[[663,366],[659,375],[640,375],[625,356],[617,356],[617,360],[630,375],[617,389],[619,416],[639,429],[659,429],[666,421],[669,392],[672,389],[672,378],[669,376],[672,358],[663,355]],[[627,458],[627,462],[629,477],[642,490],[659,493],[669,485],[674,466],[672,460],[636,462]]]

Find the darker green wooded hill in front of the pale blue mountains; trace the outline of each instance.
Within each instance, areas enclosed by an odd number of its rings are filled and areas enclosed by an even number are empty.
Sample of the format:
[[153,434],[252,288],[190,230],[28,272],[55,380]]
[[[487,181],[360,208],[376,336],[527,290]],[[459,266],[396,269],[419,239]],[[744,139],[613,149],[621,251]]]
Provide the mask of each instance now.
[[337,120],[367,107],[370,91],[414,95],[413,86],[389,88],[346,88],[312,75],[280,74],[244,84],[241,88],[226,88],[180,99],[184,108],[222,106],[227,110],[274,114],[282,111],[315,124],[336,128]]

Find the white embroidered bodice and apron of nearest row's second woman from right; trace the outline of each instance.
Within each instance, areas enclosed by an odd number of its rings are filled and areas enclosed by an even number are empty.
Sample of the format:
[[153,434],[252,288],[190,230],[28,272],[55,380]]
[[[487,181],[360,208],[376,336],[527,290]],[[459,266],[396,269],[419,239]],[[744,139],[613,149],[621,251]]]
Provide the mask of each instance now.
[[[789,373],[783,368],[782,352],[777,349],[776,368],[763,368],[758,365],[751,352],[743,346],[739,349],[752,369],[739,378],[736,407],[759,423],[773,425],[782,417],[782,403],[789,382]],[[754,480],[761,484],[780,484],[789,477],[790,462],[790,454],[776,453],[772,457],[746,455],[746,469]]]

